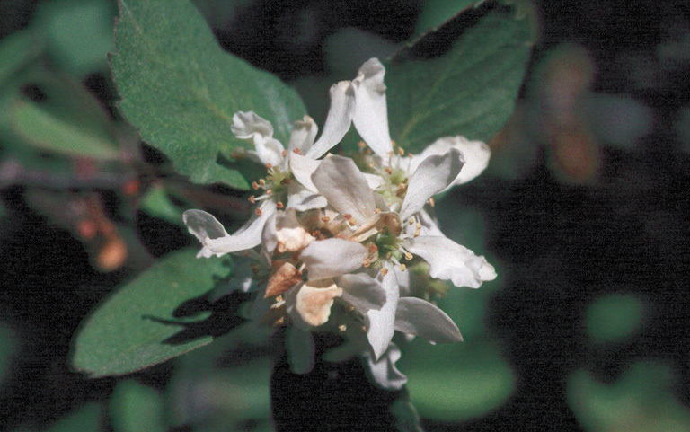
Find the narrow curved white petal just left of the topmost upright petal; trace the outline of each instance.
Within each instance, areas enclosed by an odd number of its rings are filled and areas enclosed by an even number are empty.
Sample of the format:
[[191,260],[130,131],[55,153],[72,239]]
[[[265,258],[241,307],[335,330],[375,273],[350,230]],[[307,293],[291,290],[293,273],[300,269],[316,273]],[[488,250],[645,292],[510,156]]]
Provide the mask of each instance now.
[[331,86],[331,108],[326,116],[321,137],[306,153],[307,157],[317,159],[341,142],[349,130],[355,114],[355,90],[349,81],[341,81]]

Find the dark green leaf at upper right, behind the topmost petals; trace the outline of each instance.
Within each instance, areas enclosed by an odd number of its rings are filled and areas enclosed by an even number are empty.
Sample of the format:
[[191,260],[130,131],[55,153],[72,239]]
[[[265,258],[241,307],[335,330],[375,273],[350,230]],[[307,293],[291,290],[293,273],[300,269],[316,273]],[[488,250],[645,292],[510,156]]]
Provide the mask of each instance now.
[[[444,40],[459,38],[444,54]],[[438,137],[488,141],[509,119],[525,75],[530,27],[511,7],[482,4],[460,13],[386,61],[391,137],[419,153]]]

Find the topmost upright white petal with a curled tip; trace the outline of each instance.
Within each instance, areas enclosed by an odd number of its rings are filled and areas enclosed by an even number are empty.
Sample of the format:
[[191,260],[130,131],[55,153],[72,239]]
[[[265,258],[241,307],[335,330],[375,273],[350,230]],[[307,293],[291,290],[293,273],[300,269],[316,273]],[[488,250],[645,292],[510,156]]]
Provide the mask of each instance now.
[[359,68],[355,86],[357,109],[353,119],[359,135],[380,156],[393,150],[388,132],[388,108],[385,103],[385,68],[371,58]]

